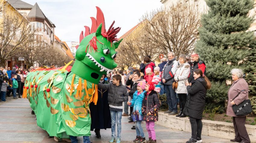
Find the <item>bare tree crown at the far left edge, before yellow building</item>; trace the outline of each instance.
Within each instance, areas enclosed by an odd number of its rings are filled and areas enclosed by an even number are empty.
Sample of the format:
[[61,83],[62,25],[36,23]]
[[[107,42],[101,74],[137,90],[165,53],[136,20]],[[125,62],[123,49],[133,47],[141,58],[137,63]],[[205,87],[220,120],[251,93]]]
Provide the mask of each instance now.
[[7,2],[0,3],[0,64],[26,51],[23,48],[34,37],[29,20]]

